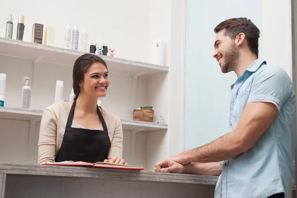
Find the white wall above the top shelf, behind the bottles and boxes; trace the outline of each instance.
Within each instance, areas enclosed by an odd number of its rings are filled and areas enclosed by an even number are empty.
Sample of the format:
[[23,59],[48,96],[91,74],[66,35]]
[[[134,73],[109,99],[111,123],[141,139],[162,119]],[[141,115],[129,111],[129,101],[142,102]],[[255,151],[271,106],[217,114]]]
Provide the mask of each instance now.
[[0,6],[0,37],[5,36],[5,23],[12,14],[15,39],[18,15],[24,15],[24,41],[31,42],[33,23],[41,23],[55,28],[54,46],[63,47],[64,28],[69,22],[80,31],[86,26],[89,45],[100,39],[115,49],[116,57],[149,62],[154,39],[168,42],[167,12],[169,0],[11,0]]

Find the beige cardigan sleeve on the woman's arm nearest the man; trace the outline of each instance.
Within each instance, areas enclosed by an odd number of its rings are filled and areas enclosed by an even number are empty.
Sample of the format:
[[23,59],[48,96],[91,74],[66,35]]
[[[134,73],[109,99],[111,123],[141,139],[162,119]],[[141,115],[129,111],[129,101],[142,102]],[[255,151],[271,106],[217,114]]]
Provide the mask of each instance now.
[[122,157],[123,155],[123,129],[121,120],[118,118],[115,122],[113,138],[108,151],[107,159],[110,160],[114,156]]

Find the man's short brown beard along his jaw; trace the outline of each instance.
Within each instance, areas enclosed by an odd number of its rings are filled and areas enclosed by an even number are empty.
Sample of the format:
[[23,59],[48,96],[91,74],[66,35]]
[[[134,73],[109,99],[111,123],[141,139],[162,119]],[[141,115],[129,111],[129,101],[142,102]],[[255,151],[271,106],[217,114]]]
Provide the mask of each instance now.
[[236,49],[234,43],[230,44],[224,55],[224,62],[222,63],[221,70],[223,73],[234,71],[239,61],[239,51]]

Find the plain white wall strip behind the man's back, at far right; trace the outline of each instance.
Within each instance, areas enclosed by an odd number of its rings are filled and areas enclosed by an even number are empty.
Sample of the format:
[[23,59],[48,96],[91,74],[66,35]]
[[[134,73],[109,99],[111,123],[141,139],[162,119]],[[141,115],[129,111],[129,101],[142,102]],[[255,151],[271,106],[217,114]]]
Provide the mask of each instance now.
[[263,58],[292,80],[291,0],[262,0]]

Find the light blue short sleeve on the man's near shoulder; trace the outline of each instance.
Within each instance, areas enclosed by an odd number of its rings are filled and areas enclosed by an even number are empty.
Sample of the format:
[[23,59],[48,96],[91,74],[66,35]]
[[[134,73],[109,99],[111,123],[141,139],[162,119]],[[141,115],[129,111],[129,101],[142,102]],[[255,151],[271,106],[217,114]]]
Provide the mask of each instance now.
[[279,67],[266,67],[257,72],[251,85],[248,101],[270,100],[281,108],[290,97],[293,86],[290,77]]

